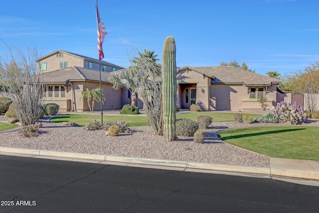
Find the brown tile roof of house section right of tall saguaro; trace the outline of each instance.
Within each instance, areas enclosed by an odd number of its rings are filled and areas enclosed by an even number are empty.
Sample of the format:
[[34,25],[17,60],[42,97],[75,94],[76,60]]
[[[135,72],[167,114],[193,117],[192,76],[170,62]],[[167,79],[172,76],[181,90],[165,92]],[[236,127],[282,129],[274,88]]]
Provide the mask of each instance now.
[[280,80],[232,66],[210,66],[178,68],[177,72],[190,69],[212,78],[211,83],[244,84],[246,86],[279,84]]

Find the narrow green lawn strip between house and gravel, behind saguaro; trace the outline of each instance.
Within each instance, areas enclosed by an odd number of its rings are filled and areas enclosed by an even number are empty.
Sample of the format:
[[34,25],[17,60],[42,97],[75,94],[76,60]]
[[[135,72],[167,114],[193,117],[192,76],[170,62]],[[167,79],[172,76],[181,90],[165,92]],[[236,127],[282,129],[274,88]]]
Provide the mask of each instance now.
[[[220,112],[192,112],[192,113],[182,113],[176,116],[176,118],[189,118],[194,121],[197,121],[197,117],[201,115],[207,115],[213,117],[213,122],[221,122],[221,121],[234,121],[234,115],[236,113],[220,113]],[[243,114],[248,115],[248,114]],[[249,114],[253,118],[260,117],[258,114]],[[63,122],[74,122],[79,126],[84,126],[88,122],[92,122],[93,120],[97,120],[101,123],[101,115],[87,115],[87,114],[75,114],[75,115],[62,115],[57,116],[51,119],[52,122],[63,123]],[[126,121],[130,123],[131,127],[138,126],[148,126],[149,122],[146,116],[135,116],[135,115],[127,115],[127,116],[119,116],[119,115],[103,115],[103,123],[106,121]]]

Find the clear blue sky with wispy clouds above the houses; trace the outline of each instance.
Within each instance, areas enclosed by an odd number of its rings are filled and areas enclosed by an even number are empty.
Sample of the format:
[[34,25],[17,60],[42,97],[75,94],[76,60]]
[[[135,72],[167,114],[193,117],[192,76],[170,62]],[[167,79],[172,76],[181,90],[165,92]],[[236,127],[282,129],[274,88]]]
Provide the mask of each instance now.
[[[319,61],[318,0],[99,0],[105,61],[128,67],[132,48],[161,59],[168,35],[177,66],[243,61],[282,75]],[[95,0],[1,2],[0,38],[41,55],[57,49],[98,58]],[[3,9],[5,8],[5,9]],[[0,57],[7,48],[0,41]]]

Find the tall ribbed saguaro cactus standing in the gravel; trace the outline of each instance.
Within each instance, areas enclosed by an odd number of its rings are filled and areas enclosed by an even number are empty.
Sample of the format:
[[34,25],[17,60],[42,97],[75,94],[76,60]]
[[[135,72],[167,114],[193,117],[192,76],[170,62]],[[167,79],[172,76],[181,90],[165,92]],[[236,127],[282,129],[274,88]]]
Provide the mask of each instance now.
[[176,120],[176,45],[172,36],[168,36],[163,45],[161,72],[163,132],[166,140],[172,141],[175,137]]

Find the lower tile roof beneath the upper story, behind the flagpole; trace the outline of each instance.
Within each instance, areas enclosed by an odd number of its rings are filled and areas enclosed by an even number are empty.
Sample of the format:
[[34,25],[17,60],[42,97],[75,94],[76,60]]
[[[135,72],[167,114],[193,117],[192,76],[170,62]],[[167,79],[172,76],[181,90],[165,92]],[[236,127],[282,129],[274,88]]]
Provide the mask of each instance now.
[[[101,82],[110,83],[110,72],[101,72]],[[82,67],[67,67],[42,74],[44,83],[67,83],[69,81],[100,81],[100,72]]]

